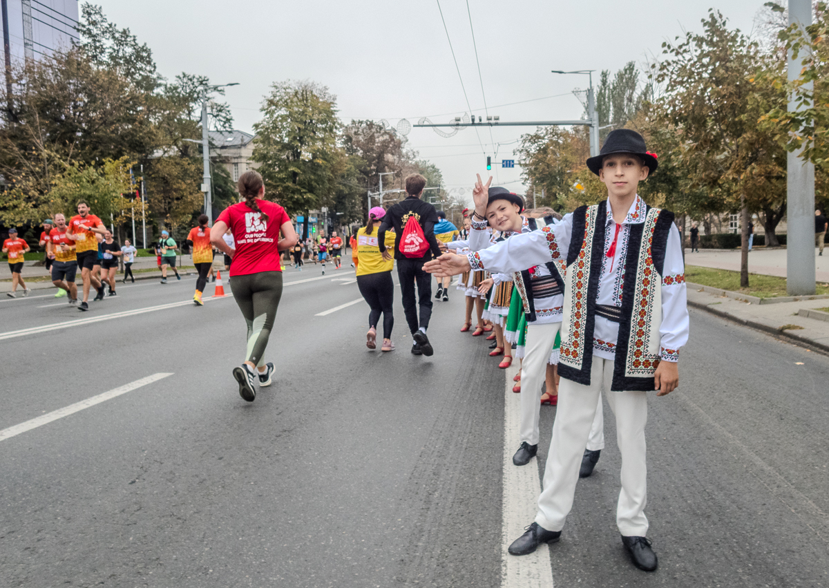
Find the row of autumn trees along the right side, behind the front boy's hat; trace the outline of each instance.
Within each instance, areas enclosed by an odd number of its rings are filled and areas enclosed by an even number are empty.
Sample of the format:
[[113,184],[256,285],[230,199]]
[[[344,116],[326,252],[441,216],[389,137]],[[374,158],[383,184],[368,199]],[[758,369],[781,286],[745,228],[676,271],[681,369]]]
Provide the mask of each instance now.
[[[786,213],[786,153],[805,148],[816,165],[816,197],[827,200],[829,171],[829,11],[816,2],[816,24],[805,35],[788,28],[783,7],[767,4],[765,36],[751,38],[709,11],[702,32],[662,44],[662,59],[639,72],[631,62],[611,79],[604,71],[597,91],[599,123],[628,127],[658,154],[659,171],[642,195],[681,217],[703,222],[739,211],[744,227],[744,285],[748,285],[749,218],[761,221],[768,245]],[[786,79],[786,52],[794,47],[803,70]],[[808,85],[807,82],[812,82]],[[789,93],[807,105],[788,114]],[[521,140],[524,177],[546,202],[572,209],[606,197],[604,185],[584,166],[584,129],[539,129]]]

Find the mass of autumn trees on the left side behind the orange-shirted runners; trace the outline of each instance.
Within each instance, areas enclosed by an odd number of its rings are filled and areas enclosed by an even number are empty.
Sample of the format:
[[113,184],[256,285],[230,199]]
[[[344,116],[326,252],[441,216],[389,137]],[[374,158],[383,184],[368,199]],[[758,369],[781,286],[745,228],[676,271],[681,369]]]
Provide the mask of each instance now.
[[[148,46],[100,7],[83,6],[78,31],[75,46],[16,64],[0,87],[0,223],[34,226],[74,213],[80,199],[107,224],[140,221],[133,195],[143,167],[148,224],[189,229],[202,172],[198,146],[185,139],[201,138],[209,80],[163,79]],[[211,122],[230,129],[226,104],[211,101]],[[212,172],[216,206],[226,206],[230,177],[221,165]]]

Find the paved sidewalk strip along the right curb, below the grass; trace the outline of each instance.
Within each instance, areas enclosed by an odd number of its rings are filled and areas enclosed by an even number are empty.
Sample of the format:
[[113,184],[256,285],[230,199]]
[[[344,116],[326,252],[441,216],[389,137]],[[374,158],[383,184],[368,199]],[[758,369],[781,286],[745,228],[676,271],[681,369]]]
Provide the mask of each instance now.
[[[748,327],[757,328],[779,338],[788,339],[792,343],[829,353],[829,322],[820,319],[829,318],[829,314],[824,316],[825,313],[809,313],[820,318],[797,314],[800,310],[827,308],[829,307],[829,299],[781,302],[778,304],[751,304],[726,296],[698,291],[689,284],[688,306],[714,313]],[[786,325],[797,325],[802,328],[780,330],[781,327]]]

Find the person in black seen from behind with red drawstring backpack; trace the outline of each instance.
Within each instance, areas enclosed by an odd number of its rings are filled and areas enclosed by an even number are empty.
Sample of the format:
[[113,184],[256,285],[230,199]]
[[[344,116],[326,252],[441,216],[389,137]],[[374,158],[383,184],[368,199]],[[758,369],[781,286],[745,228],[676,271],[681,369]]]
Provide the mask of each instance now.
[[[412,353],[430,356],[434,351],[426,336],[426,329],[429,328],[429,318],[432,317],[432,278],[424,272],[423,265],[431,260],[433,255],[434,257],[440,255],[440,247],[438,240],[434,237],[438,212],[429,202],[420,200],[424,187],[426,187],[426,178],[419,173],[406,177],[407,196],[404,201],[397,202],[385,212],[377,239],[381,252],[385,254],[383,259],[391,259],[391,255],[385,248],[385,232],[394,227],[396,233],[394,259],[397,260],[403,311],[413,338]],[[413,228],[416,232],[404,236],[404,227],[410,219],[414,220]],[[421,237],[417,233],[423,235],[424,242],[419,242]],[[406,239],[405,247],[404,238]],[[404,254],[404,248],[411,245],[424,247],[422,255]],[[410,255],[413,256],[410,257]],[[417,299],[414,294],[415,283],[417,284]],[[419,316],[417,307],[419,307]]]

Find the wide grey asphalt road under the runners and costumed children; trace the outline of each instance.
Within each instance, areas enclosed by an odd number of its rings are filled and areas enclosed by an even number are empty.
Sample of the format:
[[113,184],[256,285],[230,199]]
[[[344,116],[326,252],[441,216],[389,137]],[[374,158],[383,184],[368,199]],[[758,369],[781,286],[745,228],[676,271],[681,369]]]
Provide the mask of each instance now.
[[[458,333],[454,291],[434,357],[410,355],[399,297],[397,350],[368,352],[364,303],[317,316],[360,299],[349,272],[286,272],[274,385],[250,404],[230,377],[239,310],[188,304],[192,278],[119,284],[89,313],[0,301],[0,430],[172,374],[0,440],[0,585],[501,586],[505,374]],[[556,586],[829,584],[829,358],[691,316],[680,390],[649,406],[660,570],[618,539],[606,406],[608,447],[550,548]]]

